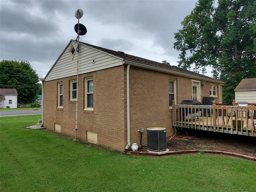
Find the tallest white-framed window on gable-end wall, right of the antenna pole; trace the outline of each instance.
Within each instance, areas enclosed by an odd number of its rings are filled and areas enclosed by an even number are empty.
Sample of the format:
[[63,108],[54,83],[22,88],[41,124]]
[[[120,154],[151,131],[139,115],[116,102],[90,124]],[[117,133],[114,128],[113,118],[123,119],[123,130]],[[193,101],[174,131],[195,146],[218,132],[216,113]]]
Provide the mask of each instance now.
[[93,79],[85,79],[85,109],[93,110]]

